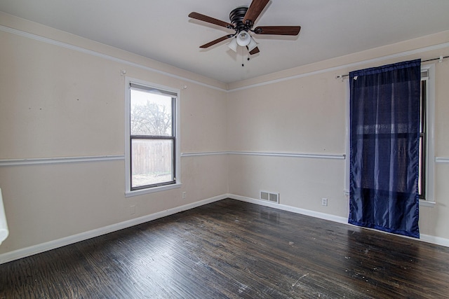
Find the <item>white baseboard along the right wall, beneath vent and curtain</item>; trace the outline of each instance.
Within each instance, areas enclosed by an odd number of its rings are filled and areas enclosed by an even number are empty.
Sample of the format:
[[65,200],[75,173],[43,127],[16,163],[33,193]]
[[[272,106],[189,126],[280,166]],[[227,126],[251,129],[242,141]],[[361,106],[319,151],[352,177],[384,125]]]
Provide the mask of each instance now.
[[[272,202],[265,202],[264,200],[256,200],[254,198],[250,198],[250,197],[243,197],[240,195],[235,195],[235,194],[227,194],[226,197],[232,198],[233,200],[240,200],[242,202],[250,202],[252,204],[259,204],[261,206],[265,206],[265,207],[272,207],[274,209],[281,209],[283,211],[292,211],[293,213],[297,213],[297,214],[302,214],[302,215],[306,215],[306,216],[312,216],[315,218],[320,218],[323,220],[328,220],[328,221],[334,221],[337,223],[342,223],[342,224],[346,224],[346,225],[351,225],[351,226],[355,226],[352,224],[348,223],[348,219],[345,217],[340,217],[340,216],[335,216],[335,215],[330,215],[330,214],[326,214],[326,213],[321,213],[318,211],[311,211],[311,210],[307,210],[307,209],[300,209],[297,207],[290,207],[287,206],[285,204],[276,204],[276,203],[272,203]],[[356,226],[357,228],[361,228],[359,226]],[[366,229],[366,230],[370,230],[370,228],[362,228],[362,229]],[[389,232],[383,232],[382,230],[375,230],[377,232],[382,232],[385,234],[388,234]],[[392,235],[392,234],[390,234]],[[427,243],[431,243],[431,244],[436,244],[436,245],[441,245],[441,246],[446,246],[449,247],[449,239],[445,239],[442,237],[435,237],[432,235],[424,235],[424,234],[420,234],[420,239],[416,239],[416,238],[412,238],[412,237],[406,237],[406,236],[402,236],[402,235],[395,235],[398,237],[405,237],[408,239],[414,239],[417,241],[422,241],[422,242],[427,242]]]

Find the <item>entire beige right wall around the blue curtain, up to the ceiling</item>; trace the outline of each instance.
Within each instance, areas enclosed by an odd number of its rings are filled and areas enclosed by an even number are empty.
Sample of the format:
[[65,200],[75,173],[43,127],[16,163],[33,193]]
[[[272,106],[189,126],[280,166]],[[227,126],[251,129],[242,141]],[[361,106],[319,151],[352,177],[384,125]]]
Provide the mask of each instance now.
[[[442,32],[229,85],[228,146],[247,152],[229,155],[229,193],[257,199],[260,190],[279,192],[281,204],[347,218],[345,160],[326,158],[346,151],[348,83],[336,76],[446,56],[448,42],[449,32]],[[423,64],[435,65],[435,156],[446,162],[435,165],[436,204],[420,207],[420,229],[427,239],[449,245],[449,59]],[[277,155],[282,153],[325,157]],[[321,206],[323,197],[328,207]]]

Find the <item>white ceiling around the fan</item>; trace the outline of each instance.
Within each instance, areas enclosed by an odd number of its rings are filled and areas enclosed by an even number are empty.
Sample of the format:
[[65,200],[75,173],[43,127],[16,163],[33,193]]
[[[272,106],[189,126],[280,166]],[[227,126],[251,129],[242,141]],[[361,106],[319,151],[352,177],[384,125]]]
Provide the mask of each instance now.
[[[0,11],[165,62],[223,83],[356,53],[449,29],[449,0],[272,0],[257,26],[300,25],[299,36],[256,35],[260,53],[238,54],[224,27],[251,0],[0,0]],[[244,62],[245,67],[241,64]]]

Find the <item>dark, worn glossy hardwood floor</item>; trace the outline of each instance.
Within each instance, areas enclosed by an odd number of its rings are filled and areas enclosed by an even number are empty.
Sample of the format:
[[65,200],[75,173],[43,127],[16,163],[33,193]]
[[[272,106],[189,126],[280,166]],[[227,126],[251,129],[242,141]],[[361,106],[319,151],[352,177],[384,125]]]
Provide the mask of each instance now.
[[449,248],[221,200],[0,265],[0,298],[448,298]]

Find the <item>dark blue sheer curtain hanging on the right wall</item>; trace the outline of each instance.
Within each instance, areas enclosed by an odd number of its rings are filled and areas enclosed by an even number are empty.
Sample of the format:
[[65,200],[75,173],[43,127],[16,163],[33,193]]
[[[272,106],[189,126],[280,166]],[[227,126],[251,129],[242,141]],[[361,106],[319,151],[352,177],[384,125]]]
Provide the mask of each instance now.
[[420,237],[421,60],[349,73],[349,223]]

